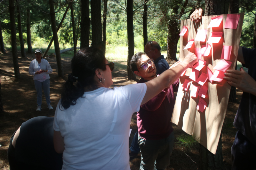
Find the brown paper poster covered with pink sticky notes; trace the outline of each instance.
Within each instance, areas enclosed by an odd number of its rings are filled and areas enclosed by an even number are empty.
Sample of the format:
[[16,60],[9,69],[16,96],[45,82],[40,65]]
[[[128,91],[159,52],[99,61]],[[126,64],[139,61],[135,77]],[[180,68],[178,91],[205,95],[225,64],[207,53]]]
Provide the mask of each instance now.
[[[238,15],[240,15],[240,17]],[[220,22],[220,25],[217,27],[207,28],[211,20],[214,19],[212,17],[216,17],[216,16],[222,16],[222,21]],[[185,58],[185,56],[189,53],[189,51],[195,53],[197,49],[200,48],[199,50],[202,50],[204,45],[207,46],[207,44],[211,45],[211,51],[208,56],[201,56],[201,60],[206,61],[206,64],[200,71],[196,71],[197,73],[199,72],[198,75],[195,75],[194,74],[195,72],[192,72],[192,68],[188,68],[186,70],[186,73],[182,77],[180,77],[180,86],[177,93],[171,122],[177,124],[186,133],[192,135],[196,140],[199,141],[200,144],[206,147],[213,154],[215,154],[217,150],[222,125],[223,125],[224,118],[227,111],[228,97],[229,97],[231,86],[228,85],[227,81],[224,79],[222,81],[213,80],[211,82],[207,78],[206,82],[203,83],[204,86],[208,87],[206,94],[202,95],[201,93],[199,96],[198,95],[199,93],[198,93],[196,97],[194,97],[196,93],[196,88],[197,88],[196,86],[199,86],[201,89],[202,82],[201,84],[199,84],[192,79],[193,79],[193,75],[194,77],[196,76],[196,79],[198,79],[201,75],[207,74],[207,67],[212,71],[213,74],[215,72],[221,73],[221,71],[219,71],[220,68],[218,68],[219,70],[213,69],[219,62],[224,62],[224,63],[232,62],[231,66],[229,66],[228,69],[235,69],[240,36],[242,31],[242,25],[244,20],[244,13],[237,13],[236,15],[234,15],[234,17],[239,18],[236,29],[225,28],[226,20],[227,22],[231,22],[231,25],[229,24],[229,26],[235,26],[235,24],[232,23],[233,18],[232,17],[230,18],[230,15],[228,19],[227,17],[228,17],[228,14],[204,16],[198,23],[195,23],[195,21],[192,22],[190,19],[187,19],[187,20],[182,20],[180,24],[181,30],[183,26],[186,26],[188,28],[188,31],[183,36],[180,36],[180,59],[179,60],[182,61]],[[184,49],[188,44],[188,41],[190,41],[191,39],[195,40],[196,34],[200,31],[204,32],[204,30],[207,30],[206,40],[204,42],[203,40],[194,41],[191,48]],[[214,32],[213,33],[214,36],[212,36],[212,32]],[[218,35],[215,33],[217,34],[222,33],[222,35],[220,36],[219,42],[207,43],[207,41],[211,37],[214,37],[214,38],[218,37]],[[201,39],[203,38],[201,37]],[[227,46],[227,47],[232,46],[230,47],[231,49],[230,58],[228,59],[225,58],[225,60],[221,57],[223,46]],[[224,67],[223,64],[220,65],[220,67]],[[225,69],[224,69],[224,72],[225,72]],[[215,76],[215,78],[221,78],[220,73],[218,75],[220,77]],[[187,85],[186,82],[188,81],[189,83]],[[185,82],[185,85],[183,85],[184,82]],[[197,107],[198,104],[200,104],[201,108]],[[204,105],[206,105],[206,107]],[[204,106],[205,108],[202,106]],[[200,109],[197,109],[197,108],[200,108]],[[200,110],[203,110],[203,111],[200,111]]]

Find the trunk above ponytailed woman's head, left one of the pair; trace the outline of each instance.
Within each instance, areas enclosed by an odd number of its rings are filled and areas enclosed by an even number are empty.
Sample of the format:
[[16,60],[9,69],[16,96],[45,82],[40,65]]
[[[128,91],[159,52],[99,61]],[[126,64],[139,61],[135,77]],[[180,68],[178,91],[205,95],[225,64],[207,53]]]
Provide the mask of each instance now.
[[89,0],[81,1],[81,33],[80,33],[80,48],[89,47],[90,45],[90,24],[89,18]]

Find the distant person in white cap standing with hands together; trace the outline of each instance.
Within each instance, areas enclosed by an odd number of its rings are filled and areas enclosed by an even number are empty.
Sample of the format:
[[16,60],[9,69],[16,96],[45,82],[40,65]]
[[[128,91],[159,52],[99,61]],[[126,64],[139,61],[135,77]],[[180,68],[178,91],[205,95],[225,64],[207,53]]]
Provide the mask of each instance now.
[[35,51],[36,59],[32,60],[28,72],[30,75],[34,76],[34,82],[37,93],[37,109],[36,111],[41,111],[42,105],[42,89],[44,89],[44,95],[46,99],[47,106],[53,109],[50,100],[50,76],[52,73],[52,68],[47,60],[42,58],[42,50],[37,49]]

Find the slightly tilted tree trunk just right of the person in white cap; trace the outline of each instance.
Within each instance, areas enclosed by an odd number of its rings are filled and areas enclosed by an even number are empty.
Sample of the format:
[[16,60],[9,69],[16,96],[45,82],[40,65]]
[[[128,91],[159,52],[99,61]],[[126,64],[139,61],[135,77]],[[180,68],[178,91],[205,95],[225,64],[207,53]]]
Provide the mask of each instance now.
[[56,21],[55,21],[54,1],[49,0],[49,5],[50,5],[50,15],[51,15],[51,21],[52,21],[52,34],[53,34],[53,40],[54,40],[54,48],[55,48],[57,66],[58,66],[58,76],[61,78],[64,78],[64,72],[63,72],[61,57],[60,57],[60,46],[59,46]]

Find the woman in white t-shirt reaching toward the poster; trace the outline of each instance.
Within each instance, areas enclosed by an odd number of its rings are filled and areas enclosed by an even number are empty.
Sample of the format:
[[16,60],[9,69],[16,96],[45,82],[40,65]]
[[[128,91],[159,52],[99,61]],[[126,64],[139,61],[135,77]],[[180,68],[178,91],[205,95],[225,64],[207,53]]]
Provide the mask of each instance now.
[[78,51],[53,122],[54,148],[63,153],[62,169],[130,169],[132,114],[196,62],[190,53],[175,70],[151,81],[111,89],[114,63],[108,63],[97,48]]

